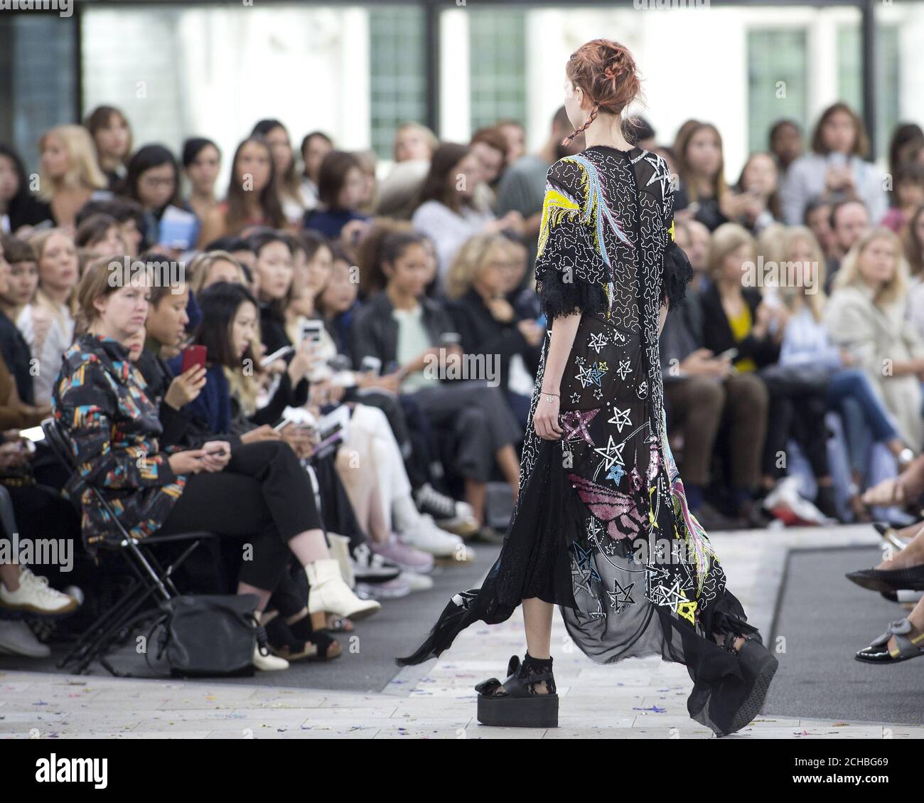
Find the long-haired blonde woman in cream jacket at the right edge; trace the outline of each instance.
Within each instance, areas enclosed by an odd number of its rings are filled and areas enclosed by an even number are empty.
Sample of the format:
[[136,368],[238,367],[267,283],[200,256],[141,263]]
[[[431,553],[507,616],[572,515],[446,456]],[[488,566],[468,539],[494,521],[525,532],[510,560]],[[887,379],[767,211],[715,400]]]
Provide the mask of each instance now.
[[847,253],[834,278],[825,326],[869,377],[902,439],[919,451],[924,342],[906,319],[907,294],[901,242],[890,229],[873,229]]

